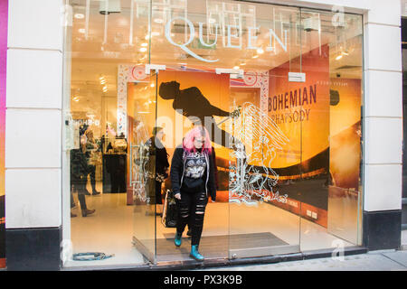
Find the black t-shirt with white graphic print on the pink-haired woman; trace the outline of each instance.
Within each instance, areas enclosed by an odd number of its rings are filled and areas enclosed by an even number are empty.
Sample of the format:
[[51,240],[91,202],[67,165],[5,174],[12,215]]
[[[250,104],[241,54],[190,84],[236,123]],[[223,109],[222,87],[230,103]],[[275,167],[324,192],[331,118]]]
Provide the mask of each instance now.
[[183,191],[205,190],[206,159],[200,152],[186,155]]

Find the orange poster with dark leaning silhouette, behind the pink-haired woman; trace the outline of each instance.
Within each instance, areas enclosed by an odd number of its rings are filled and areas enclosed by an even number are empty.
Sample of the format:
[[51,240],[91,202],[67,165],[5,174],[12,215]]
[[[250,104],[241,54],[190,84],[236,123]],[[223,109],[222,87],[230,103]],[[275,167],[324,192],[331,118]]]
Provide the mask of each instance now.
[[[217,141],[213,137],[219,188],[216,201],[228,201],[229,150],[225,143],[229,138],[229,92],[229,74],[218,75],[214,71],[166,70],[154,76],[143,75],[137,82],[128,84],[128,141],[144,144],[152,136],[154,126],[162,127],[165,134],[163,144],[171,163],[175,147],[182,144],[185,134],[194,123],[201,121],[204,125],[206,119],[209,133],[220,135]],[[133,150],[132,154],[137,152]],[[135,170],[137,168],[133,166],[132,171]],[[134,177],[137,173],[141,172],[133,172]],[[167,178],[165,190],[170,185]],[[139,194],[143,193],[140,190]]]

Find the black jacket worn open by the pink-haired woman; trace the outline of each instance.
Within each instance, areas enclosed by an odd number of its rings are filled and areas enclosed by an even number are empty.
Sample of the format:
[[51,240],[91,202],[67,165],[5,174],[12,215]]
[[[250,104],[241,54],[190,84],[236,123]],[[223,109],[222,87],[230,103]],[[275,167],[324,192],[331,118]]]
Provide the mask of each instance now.
[[[205,190],[206,195],[211,196],[211,199],[214,201],[216,200],[216,184],[214,178],[214,165],[213,165],[213,155],[208,154],[206,161],[209,161],[209,168],[206,172],[207,180],[205,180]],[[184,165],[185,165],[185,157],[184,157],[184,149],[179,146],[175,148],[175,152],[173,155],[173,160],[171,161],[171,187],[174,193],[178,193],[181,191],[182,180],[184,179]]]

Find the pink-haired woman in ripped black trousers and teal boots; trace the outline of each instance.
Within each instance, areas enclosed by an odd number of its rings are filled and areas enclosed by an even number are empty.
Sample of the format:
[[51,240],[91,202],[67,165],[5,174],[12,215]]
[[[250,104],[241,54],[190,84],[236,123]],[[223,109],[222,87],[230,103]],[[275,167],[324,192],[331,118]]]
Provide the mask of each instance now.
[[191,225],[191,252],[196,261],[204,261],[199,243],[204,228],[208,196],[216,200],[211,139],[204,126],[194,126],[183,144],[175,148],[171,162],[171,186],[178,207],[175,246],[180,247],[185,226]]

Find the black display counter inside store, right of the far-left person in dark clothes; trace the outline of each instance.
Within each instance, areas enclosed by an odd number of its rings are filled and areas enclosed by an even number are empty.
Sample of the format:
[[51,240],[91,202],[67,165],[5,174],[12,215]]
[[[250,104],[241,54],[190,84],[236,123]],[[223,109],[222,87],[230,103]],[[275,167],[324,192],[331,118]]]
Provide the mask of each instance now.
[[126,192],[127,154],[103,154],[103,193]]

